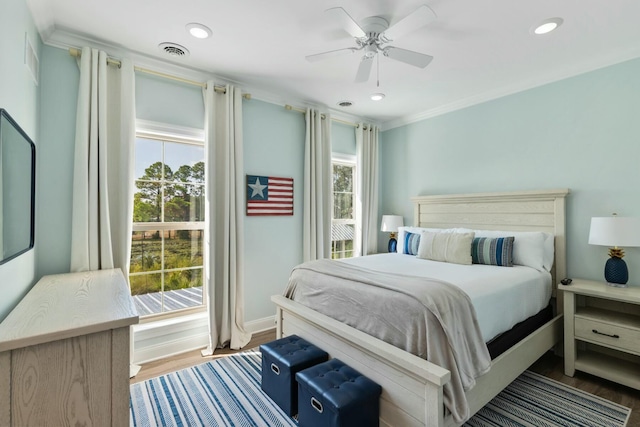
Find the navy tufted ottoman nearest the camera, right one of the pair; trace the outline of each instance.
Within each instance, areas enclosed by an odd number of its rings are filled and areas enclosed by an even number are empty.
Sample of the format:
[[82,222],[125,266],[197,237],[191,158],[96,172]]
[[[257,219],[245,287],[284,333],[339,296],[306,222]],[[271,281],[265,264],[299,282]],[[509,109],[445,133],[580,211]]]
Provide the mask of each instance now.
[[378,426],[382,387],[338,359],[296,374],[300,427]]

